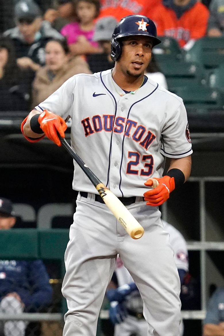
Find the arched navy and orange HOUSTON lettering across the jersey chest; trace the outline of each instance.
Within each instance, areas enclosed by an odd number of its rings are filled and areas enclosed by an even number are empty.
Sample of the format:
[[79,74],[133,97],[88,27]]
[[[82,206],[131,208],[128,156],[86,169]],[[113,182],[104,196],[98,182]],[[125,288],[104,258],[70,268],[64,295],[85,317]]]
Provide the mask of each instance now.
[[[114,122],[114,125],[113,125]],[[138,125],[138,123],[131,119],[124,117],[116,117],[114,121],[114,115],[95,115],[91,119],[86,117],[81,121],[85,136],[89,136],[95,132],[113,132],[120,133],[127,137],[132,136],[132,139],[145,148],[148,149],[149,145],[155,139],[155,135],[147,130],[145,126]]]

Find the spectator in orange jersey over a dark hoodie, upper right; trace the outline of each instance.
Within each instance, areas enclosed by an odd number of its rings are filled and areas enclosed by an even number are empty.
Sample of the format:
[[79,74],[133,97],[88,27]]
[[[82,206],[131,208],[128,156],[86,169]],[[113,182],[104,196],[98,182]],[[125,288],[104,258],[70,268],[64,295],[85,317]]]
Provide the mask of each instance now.
[[158,36],[174,37],[180,47],[189,50],[196,39],[206,35],[209,10],[197,0],[163,0],[150,18]]

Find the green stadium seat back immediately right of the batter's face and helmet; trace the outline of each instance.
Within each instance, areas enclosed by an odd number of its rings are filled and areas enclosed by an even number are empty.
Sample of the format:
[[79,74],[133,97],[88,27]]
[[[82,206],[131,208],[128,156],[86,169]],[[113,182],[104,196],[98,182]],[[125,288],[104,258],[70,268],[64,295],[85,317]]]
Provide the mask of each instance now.
[[158,36],[162,43],[153,47],[153,54],[156,56],[158,62],[167,59],[182,58],[182,50],[176,39],[168,36]]

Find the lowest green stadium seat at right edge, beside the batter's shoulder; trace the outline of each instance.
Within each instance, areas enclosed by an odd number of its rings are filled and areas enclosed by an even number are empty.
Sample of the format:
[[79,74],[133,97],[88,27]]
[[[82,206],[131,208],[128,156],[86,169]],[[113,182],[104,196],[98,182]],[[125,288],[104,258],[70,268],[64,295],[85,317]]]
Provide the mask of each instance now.
[[212,109],[224,111],[224,99],[218,89],[198,84],[190,87],[179,87],[175,93],[183,99],[186,110]]

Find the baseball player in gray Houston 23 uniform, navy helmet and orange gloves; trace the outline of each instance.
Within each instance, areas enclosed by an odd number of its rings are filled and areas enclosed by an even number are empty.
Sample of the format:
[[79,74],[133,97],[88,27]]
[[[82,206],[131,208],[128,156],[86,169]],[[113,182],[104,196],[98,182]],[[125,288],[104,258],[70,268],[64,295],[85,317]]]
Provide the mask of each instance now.
[[[60,146],[58,133],[64,137],[71,117],[72,147],[145,230],[133,240],[74,162],[79,194],[65,251],[64,336],[96,334],[117,254],[141,293],[153,335],[179,335],[180,280],[158,206],[188,178],[192,149],[182,99],[144,76],[160,42],[148,17],[122,18],[111,38],[115,67],[71,77],[21,124],[28,140],[46,135]],[[158,180],[156,188],[149,177]]]

